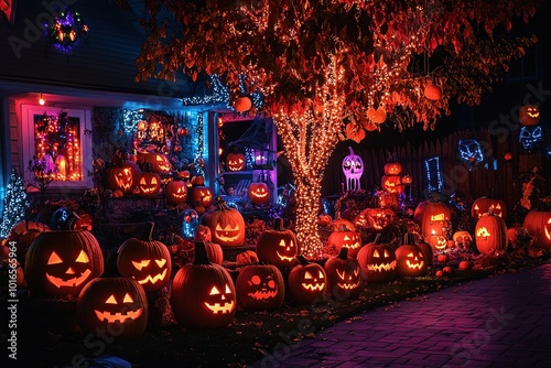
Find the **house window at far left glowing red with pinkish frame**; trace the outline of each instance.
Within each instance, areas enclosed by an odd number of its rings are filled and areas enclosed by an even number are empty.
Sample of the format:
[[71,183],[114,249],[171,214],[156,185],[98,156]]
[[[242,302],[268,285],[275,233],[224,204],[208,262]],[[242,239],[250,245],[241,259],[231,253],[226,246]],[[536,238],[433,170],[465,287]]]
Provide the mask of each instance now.
[[[89,111],[22,106],[24,178],[47,178],[51,188],[91,186]],[[29,170],[33,166],[33,172]]]

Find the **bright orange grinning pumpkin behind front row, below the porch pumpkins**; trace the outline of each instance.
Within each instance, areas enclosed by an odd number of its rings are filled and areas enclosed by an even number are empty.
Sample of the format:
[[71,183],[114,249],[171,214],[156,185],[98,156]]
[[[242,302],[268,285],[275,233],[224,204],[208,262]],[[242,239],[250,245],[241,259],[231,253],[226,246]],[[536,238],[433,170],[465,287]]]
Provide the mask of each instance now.
[[219,197],[216,207],[201,216],[201,225],[210,228],[213,241],[222,247],[238,247],[245,240],[245,219],[239,210],[228,207]]

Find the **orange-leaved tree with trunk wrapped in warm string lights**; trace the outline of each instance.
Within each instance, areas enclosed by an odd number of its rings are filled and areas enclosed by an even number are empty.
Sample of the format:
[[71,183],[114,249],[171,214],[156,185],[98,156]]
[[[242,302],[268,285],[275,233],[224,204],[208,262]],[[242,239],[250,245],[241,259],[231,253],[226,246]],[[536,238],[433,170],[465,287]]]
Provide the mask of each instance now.
[[[434,128],[453,100],[483,93],[537,42],[512,36],[537,1],[147,1],[138,80],[216,74],[230,99],[260,90],[298,181],[299,241],[317,247],[321,177],[338,140],[359,141],[383,108],[399,130]],[[429,99],[429,84],[442,96]],[[365,131],[364,131],[365,130]],[[376,132],[374,132],[376,133]],[[315,194],[317,193],[317,195]],[[303,196],[309,196],[305,198]],[[306,205],[307,204],[307,205]],[[312,243],[312,246],[310,245]],[[315,251],[310,251],[314,253]]]

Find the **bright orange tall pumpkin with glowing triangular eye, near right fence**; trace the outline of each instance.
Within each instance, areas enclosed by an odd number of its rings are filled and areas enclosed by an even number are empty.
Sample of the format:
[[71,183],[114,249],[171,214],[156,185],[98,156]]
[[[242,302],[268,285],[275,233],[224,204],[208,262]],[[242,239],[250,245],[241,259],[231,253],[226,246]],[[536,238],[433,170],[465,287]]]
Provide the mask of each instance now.
[[509,238],[505,220],[495,215],[485,215],[476,221],[476,249],[483,255],[496,255],[507,250]]

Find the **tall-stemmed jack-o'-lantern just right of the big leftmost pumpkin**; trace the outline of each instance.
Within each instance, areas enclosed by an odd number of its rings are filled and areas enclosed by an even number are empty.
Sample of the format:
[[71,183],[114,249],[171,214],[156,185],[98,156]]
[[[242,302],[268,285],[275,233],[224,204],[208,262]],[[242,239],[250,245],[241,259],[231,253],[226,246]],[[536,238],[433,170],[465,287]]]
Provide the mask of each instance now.
[[119,247],[117,268],[121,275],[134,279],[147,292],[164,288],[170,280],[172,259],[169,248],[152,239],[153,223],[148,223],[141,239],[130,238]]

